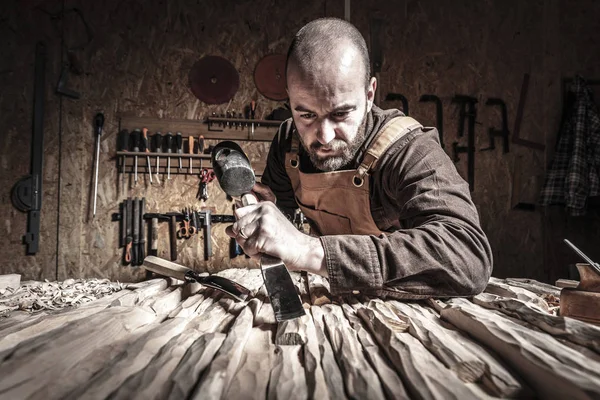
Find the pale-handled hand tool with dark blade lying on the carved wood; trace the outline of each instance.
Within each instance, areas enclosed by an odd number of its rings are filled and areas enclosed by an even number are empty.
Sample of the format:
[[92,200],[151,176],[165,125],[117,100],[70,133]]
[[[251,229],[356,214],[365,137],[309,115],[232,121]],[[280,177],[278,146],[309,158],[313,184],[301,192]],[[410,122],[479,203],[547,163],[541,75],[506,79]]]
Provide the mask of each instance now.
[[158,257],[147,257],[144,268],[163,276],[169,276],[185,282],[198,282],[206,287],[219,290],[238,301],[246,301],[252,296],[250,290],[230,279],[218,275],[200,275],[183,265],[163,260]]

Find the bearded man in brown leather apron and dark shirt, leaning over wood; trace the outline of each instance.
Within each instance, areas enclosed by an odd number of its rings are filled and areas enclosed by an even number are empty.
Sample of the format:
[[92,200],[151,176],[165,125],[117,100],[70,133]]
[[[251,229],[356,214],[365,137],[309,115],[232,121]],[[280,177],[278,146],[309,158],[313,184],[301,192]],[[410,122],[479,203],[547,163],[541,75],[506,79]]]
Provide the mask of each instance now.
[[[227,229],[246,254],[329,278],[332,294],[470,296],[492,254],[467,183],[437,130],[373,104],[360,32],[339,19],[304,26],[288,51],[293,117],[273,139],[263,201],[236,210]],[[300,208],[311,235],[284,213]]]

